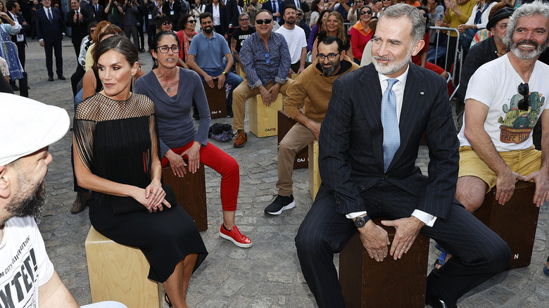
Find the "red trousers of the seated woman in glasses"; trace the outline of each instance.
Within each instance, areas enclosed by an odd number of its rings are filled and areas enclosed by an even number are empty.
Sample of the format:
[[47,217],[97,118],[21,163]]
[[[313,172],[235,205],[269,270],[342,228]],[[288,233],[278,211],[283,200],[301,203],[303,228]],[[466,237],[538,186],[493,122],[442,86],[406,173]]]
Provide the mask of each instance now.
[[[181,155],[192,146],[194,141],[181,148],[172,148],[172,151]],[[184,155],[183,158],[187,158]],[[200,148],[200,162],[221,174],[221,205],[224,211],[236,210],[236,202],[239,195],[240,169],[239,164],[229,154],[223,152],[217,146],[207,143]],[[169,164],[168,158],[162,158],[162,167]]]

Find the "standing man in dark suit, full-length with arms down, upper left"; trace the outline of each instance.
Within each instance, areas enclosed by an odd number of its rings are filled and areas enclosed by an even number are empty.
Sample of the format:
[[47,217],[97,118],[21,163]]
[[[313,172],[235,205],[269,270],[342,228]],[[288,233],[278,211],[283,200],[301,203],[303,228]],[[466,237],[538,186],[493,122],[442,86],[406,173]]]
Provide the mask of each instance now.
[[65,37],[65,21],[63,14],[57,8],[51,7],[51,0],[42,0],[44,8],[36,11],[36,32],[40,46],[46,52],[46,68],[48,81],[53,82],[53,51],[56,56],[56,73],[58,79],[63,76],[63,53],[61,41]]

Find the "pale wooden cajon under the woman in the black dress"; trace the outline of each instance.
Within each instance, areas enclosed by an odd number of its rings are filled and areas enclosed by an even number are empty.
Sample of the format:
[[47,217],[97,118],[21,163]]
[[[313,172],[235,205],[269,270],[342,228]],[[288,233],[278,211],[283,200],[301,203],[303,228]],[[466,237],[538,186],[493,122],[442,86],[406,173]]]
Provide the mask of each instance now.
[[85,246],[92,302],[114,300],[127,307],[162,308],[162,284],[147,278],[149,262],[141,250],[115,243],[93,226]]

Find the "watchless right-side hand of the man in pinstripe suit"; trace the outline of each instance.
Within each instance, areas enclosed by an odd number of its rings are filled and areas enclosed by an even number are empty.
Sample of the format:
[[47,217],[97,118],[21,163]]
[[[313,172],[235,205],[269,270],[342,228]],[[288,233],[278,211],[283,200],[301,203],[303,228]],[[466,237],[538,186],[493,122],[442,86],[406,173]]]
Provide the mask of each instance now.
[[390,252],[393,259],[400,259],[410,250],[419,231],[425,225],[424,222],[414,216],[396,220],[382,220],[381,224],[384,226],[394,226],[396,229]]

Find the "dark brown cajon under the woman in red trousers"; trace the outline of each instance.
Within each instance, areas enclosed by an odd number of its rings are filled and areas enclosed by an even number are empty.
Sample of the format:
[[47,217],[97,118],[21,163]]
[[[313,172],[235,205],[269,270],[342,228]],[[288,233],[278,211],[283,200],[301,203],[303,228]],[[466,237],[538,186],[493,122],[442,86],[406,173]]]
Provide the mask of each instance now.
[[[185,160],[189,165],[189,162]],[[198,231],[208,230],[208,207],[206,206],[206,174],[204,165],[195,174],[187,170],[184,177],[177,177],[173,174],[170,165],[162,168],[162,177],[165,185],[172,186],[177,198],[177,203],[183,207],[185,212],[191,215],[198,226]]]

